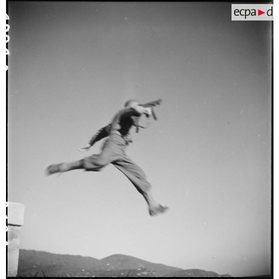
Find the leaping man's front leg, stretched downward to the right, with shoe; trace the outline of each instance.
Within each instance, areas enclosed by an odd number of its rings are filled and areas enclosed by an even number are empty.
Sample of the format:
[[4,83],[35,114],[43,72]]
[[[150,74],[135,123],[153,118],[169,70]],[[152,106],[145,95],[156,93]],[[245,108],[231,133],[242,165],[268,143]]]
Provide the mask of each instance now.
[[142,194],[148,205],[148,211],[151,216],[163,213],[168,209],[155,201],[151,194],[151,185],[146,179],[143,170],[137,166],[127,155],[120,160],[112,162],[127,178],[132,182],[135,188]]

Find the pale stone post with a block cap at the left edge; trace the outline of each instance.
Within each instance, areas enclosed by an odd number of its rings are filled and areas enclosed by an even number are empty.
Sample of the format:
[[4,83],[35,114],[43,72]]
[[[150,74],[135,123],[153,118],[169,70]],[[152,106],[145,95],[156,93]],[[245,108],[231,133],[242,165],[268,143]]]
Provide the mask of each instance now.
[[20,227],[23,225],[23,216],[24,205],[9,201],[7,206],[7,276],[16,276],[17,274]]

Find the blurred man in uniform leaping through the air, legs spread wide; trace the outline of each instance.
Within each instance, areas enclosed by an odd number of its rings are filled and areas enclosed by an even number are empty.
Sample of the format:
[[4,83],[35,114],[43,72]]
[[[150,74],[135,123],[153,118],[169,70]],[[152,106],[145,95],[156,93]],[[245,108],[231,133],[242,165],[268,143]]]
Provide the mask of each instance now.
[[51,164],[46,168],[46,174],[49,175],[72,169],[99,171],[105,165],[112,163],[127,176],[135,188],[142,194],[147,202],[148,211],[151,216],[163,213],[168,207],[162,206],[154,200],[150,191],[151,185],[146,180],[145,173],[125,153],[126,146],[130,142],[130,128],[132,126],[138,128],[136,121],[138,116],[145,114],[149,117],[152,112],[150,107],[144,107],[136,100],[126,101],[124,108],[114,115],[111,123],[100,128],[91,137],[87,145],[79,148],[80,151],[87,151],[96,141],[108,136],[99,154],[93,154],[73,162]]

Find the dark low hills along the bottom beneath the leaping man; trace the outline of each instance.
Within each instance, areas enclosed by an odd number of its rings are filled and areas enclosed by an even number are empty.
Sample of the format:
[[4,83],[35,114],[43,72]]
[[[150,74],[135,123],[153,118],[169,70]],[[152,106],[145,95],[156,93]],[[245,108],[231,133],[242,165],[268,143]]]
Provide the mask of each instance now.
[[19,249],[17,276],[53,277],[201,277],[216,272],[202,269],[182,269],[153,263],[125,254],[112,254],[101,259],[90,256],[54,254],[45,251]]

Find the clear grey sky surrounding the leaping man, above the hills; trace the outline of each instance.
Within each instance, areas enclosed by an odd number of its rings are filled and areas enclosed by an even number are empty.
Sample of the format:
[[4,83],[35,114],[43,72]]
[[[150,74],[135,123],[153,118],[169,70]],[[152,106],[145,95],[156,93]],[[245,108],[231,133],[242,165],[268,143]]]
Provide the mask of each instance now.
[[[233,276],[270,272],[271,23],[228,2],[8,3],[8,200],[20,248],[132,255]],[[129,156],[155,199],[113,165],[45,176],[130,98],[162,98]]]

